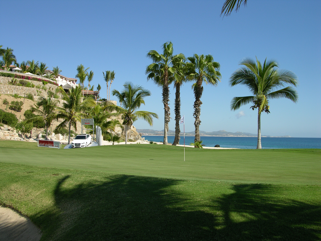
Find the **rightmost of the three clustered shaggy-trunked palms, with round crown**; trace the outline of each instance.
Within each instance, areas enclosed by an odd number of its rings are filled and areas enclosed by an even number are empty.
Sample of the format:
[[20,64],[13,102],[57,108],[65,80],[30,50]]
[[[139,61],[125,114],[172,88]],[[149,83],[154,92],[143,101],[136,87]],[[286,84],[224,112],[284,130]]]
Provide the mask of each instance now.
[[[206,84],[217,85],[220,81],[221,73],[220,64],[213,61],[212,55],[200,55],[194,54],[193,57],[187,58],[190,62],[187,63],[188,78],[194,80],[192,85],[194,90],[195,102],[194,102],[194,117],[195,117],[195,139],[194,143],[200,142],[199,125],[201,124],[201,97],[203,94],[203,82]],[[196,147],[196,146],[195,146]]]

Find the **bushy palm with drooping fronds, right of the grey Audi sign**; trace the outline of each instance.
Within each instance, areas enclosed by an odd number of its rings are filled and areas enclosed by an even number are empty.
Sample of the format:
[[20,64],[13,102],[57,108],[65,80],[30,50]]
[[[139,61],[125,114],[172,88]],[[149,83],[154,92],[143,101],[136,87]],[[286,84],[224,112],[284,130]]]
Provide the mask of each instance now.
[[[148,122],[151,126],[153,125],[153,117],[158,119],[158,115],[148,111],[138,111],[142,104],[145,104],[144,98],[150,96],[151,92],[144,89],[142,86],[133,85],[130,82],[126,82],[124,90],[120,93],[117,90],[113,90],[112,94],[116,95],[121,106],[109,104],[105,106],[111,112],[111,115],[121,116],[123,125],[126,126],[125,130],[125,144],[127,144],[127,130],[131,129],[133,122],[136,119],[143,119]],[[116,111],[113,113],[113,111]]]

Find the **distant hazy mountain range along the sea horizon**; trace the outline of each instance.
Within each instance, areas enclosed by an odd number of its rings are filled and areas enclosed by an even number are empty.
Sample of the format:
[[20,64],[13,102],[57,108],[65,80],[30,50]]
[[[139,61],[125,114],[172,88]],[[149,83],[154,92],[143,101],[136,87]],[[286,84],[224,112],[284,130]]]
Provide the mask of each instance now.
[[[136,129],[137,132],[142,133],[143,135],[164,135],[164,130],[151,130],[151,129]],[[174,130],[169,130],[167,132],[169,136],[175,136]],[[184,135],[183,132],[180,135]],[[195,132],[185,132],[185,136],[194,136]],[[226,130],[219,130],[219,131],[202,131],[200,130],[200,136],[230,136],[230,137],[257,137],[257,134],[251,134],[246,132],[228,132]],[[271,137],[269,135],[261,135],[261,137]],[[278,137],[290,137],[290,136],[278,136]]]

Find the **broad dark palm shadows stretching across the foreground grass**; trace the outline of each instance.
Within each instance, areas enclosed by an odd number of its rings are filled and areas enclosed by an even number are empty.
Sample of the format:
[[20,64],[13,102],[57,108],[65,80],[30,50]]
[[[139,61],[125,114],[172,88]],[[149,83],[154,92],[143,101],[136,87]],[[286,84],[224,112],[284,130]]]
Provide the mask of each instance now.
[[195,207],[171,188],[179,180],[113,175],[70,189],[68,178],[56,186],[50,240],[319,240],[320,206],[270,200],[277,186],[231,185]]

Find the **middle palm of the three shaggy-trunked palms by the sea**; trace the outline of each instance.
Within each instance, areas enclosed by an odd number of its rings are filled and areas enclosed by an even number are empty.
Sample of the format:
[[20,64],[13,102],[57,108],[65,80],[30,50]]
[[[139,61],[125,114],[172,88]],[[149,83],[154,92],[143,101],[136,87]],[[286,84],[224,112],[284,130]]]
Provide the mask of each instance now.
[[179,145],[180,140],[180,128],[179,122],[181,119],[180,115],[180,87],[186,82],[186,68],[185,68],[185,59],[179,59],[178,61],[174,61],[174,66],[176,72],[174,74],[174,87],[176,89],[175,92],[175,138],[173,141],[173,146]]

